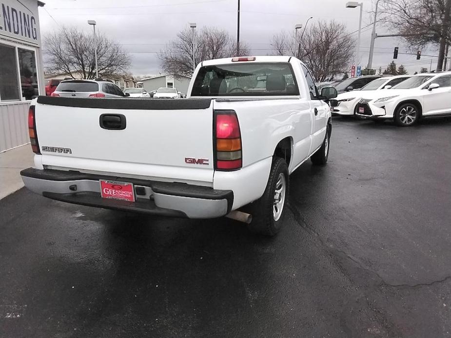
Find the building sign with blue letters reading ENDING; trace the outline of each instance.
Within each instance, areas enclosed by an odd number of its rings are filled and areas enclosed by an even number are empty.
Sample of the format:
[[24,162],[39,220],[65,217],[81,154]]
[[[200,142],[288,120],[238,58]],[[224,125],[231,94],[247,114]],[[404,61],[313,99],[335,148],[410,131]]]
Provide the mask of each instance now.
[[37,0],[0,0],[0,36],[39,45]]

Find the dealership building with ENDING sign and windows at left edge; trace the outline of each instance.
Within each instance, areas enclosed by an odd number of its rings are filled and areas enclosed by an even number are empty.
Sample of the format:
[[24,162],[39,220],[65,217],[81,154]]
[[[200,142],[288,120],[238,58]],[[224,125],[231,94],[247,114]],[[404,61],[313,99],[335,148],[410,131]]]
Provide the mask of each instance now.
[[36,0],[0,0],[0,151],[29,142],[33,96],[45,95]]

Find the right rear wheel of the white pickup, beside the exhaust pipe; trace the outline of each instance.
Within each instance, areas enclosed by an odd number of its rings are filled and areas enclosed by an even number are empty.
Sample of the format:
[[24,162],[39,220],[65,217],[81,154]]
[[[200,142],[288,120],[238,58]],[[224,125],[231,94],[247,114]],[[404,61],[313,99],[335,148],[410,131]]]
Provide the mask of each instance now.
[[288,192],[287,163],[280,157],[274,157],[263,196],[249,205],[252,222],[248,229],[266,236],[277,234],[285,219]]

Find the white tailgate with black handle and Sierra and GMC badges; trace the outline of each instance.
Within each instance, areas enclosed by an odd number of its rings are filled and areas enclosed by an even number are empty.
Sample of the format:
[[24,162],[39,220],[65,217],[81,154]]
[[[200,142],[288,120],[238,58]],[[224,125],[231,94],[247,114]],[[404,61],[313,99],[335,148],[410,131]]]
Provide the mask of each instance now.
[[35,118],[46,168],[213,182],[210,99],[40,96]]

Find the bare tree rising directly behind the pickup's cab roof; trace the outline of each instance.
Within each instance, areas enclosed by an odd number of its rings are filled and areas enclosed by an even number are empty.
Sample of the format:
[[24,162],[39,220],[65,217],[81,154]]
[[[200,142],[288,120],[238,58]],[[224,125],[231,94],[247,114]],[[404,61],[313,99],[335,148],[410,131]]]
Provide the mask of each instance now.
[[[193,44],[195,64],[203,60],[236,56],[236,41],[225,30],[203,27],[194,32],[187,28],[177,34],[158,55],[161,68],[168,73],[191,76],[193,74]],[[240,42],[239,54],[249,54],[249,47]]]

